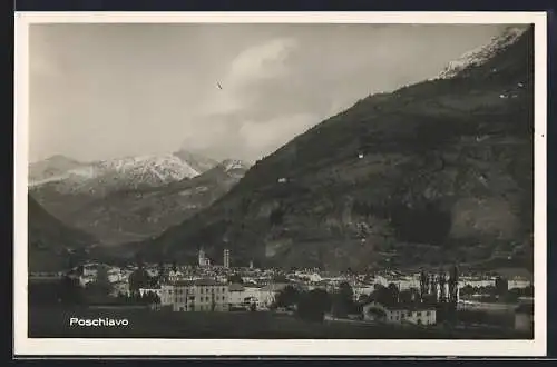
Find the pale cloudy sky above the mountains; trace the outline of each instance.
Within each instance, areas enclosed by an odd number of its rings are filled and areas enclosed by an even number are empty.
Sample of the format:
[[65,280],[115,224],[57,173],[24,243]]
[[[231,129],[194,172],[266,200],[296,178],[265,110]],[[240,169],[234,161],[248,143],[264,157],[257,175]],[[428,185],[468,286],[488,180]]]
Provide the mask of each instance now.
[[32,24],[29,159],[185,149],[253,162],[361,98],[434,77],[502,27]]

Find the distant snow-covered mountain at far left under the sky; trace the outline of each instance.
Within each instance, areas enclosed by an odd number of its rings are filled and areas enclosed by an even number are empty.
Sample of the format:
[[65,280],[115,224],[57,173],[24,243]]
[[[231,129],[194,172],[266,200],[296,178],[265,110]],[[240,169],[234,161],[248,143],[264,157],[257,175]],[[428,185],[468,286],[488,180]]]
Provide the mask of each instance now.
[[165,187],[214,167],[211,159],[182,150],[159,156],[77,162],[57,156],[30,166],[29,191],[48,211],[75,225],[76,211],[123,190]]

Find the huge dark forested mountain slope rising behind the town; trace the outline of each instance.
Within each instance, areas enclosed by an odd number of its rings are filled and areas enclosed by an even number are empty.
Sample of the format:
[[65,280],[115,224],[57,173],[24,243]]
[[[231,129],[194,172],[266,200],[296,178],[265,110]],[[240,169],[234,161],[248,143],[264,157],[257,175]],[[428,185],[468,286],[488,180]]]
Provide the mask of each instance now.
[[194,261],[203,245],[283,267],[500,256],[531,267],[532,44],[529,29],[450,77],[360,100],[139,254]]

